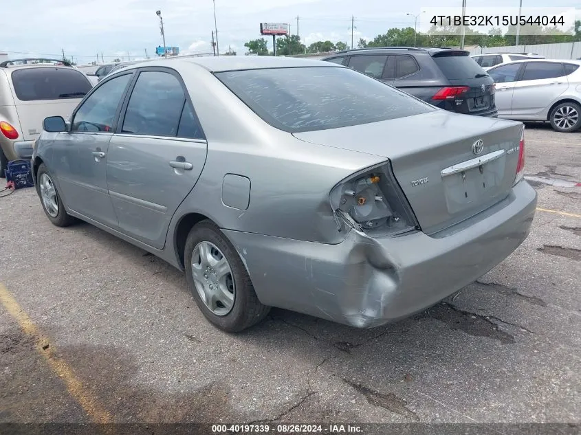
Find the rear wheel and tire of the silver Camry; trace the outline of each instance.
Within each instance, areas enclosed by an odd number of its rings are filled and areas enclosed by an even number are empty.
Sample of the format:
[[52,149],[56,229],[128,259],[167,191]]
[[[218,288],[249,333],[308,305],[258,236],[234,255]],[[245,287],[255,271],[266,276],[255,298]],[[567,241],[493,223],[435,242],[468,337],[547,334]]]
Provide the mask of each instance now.
[[222,331],[243,331],[270,311],[256,296],[236,249],[211,221],[201,221],[190,230],[184,263],[197,306]]

